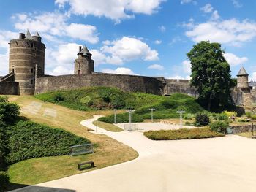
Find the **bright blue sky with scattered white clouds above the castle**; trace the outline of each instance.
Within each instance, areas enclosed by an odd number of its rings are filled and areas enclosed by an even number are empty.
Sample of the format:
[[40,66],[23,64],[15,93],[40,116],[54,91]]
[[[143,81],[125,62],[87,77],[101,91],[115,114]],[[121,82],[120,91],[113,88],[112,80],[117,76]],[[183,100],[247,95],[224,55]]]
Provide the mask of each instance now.
[[8,42],[29,29],[45,43],[45,74],[73,74],[86,45],[96,72],[189,79],[186,54],[210,41],[222,44],[232,77],[244,66],[256,80],[255,13],[255,0],[1,0],[0,76]]

